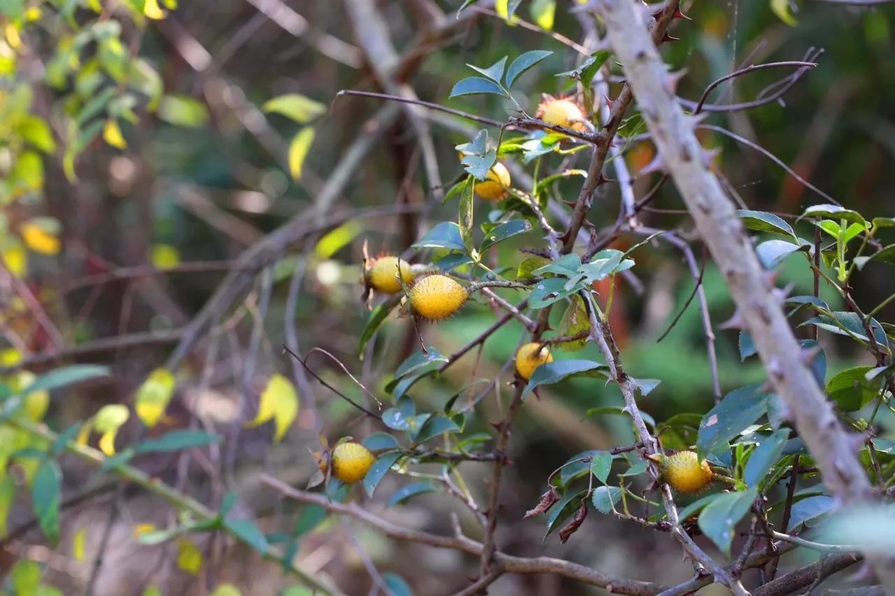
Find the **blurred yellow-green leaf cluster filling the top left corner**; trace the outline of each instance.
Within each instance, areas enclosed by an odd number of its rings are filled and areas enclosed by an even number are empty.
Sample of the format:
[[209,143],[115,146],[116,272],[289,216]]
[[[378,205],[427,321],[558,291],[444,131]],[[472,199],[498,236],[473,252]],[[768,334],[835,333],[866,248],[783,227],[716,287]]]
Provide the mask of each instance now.
[[[61,248],[59,222],[30,207],[42,195],[47,158],[58,155],[73,182],[76,159],[99,137],[115,149],[127,147],[123,125],[138,123],[141,111],[180,126],[208,120],[200,102],[166,94],[153,65],[122,38],[127,27],[141,35],[176,0],[163,5],[129,0],[111,17],[98,0],[0,6],[0,259],[14,275],[27,274],[28,251],[54,255]],[[42,81],[35,81],[27,56],[47,31],[53,48]],[[36,89],[52,96],[52,106],[38,105],[47,101],[43,95],[37,101]]]

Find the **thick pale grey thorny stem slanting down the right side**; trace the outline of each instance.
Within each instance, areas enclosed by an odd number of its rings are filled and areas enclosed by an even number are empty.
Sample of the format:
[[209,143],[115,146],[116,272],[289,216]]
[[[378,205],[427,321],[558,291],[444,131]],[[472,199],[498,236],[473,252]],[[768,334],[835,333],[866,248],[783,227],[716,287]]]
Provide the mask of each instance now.
[[[652,138],[727,280],[771,385],[788,406],[799,435],[821,468],[824,485],[843,504],[873,498],[855,453],[857,441],[842,429],[818,387],[736,210],[703,164],[696,123],[669,92],[668,70],[647,33],[644,14],[625,0],[598,0],[597,5]],[[875,563],[883,585],[895,590],[895,573],[884,561]]]

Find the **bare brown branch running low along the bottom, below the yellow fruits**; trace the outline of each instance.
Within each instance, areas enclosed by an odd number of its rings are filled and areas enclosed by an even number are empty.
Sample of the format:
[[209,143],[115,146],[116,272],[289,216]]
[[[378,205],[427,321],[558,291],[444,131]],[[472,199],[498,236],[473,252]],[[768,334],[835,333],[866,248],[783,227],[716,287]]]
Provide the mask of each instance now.
[[[427,544],[440,549],[460,550],[474,556],[480,556],[482,554],[482,543],[466,538],[462,534],[457,534],[456,536],[451,537],[412,530],[393,524],[379,515],[372,514],[366,509],[358,506],[356,503],[336,503],[329,500],[324,495],[294,489],[285,482],[279,481],[268,474],[262,474],[260,480],[264,484],[278,490],[284,497],[293,498],[302,503],[319,505],[332,513],[349,515],[371,525],[391,538],[416,542],[419,544]],[[559,558],[522,558],[499,552],[495,553],[494,561],[499,568],[506,573],[561,575],[581,583],[599,586],[608,592],[616,594],[647,596],[661,592],[664,589],[662,586],[655,583],[640,582],[637,580],[629,580],[623,577],[603,574],[589,567]]]

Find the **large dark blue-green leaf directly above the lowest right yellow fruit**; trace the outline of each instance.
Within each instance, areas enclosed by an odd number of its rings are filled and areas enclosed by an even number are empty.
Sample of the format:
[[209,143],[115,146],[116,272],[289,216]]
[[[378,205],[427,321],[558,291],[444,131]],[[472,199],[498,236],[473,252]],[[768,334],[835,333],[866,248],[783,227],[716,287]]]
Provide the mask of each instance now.
[[696,447],[702,455],[737,437],[766,411],[771,394],[761,391],[762,385],[750,385],[731,391],[703,416]]

